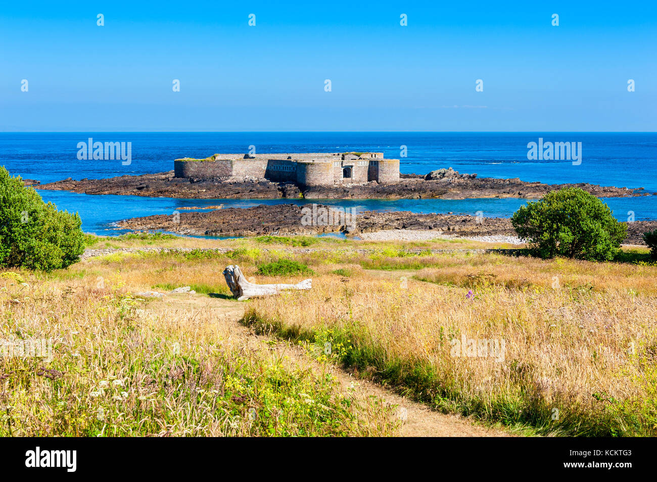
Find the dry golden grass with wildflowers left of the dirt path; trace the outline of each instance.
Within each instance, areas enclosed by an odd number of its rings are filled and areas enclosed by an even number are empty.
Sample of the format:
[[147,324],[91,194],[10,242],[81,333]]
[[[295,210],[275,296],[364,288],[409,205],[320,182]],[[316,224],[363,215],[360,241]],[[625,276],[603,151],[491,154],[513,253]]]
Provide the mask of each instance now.
[[239,303],[130,294],[158,281],[214,286],[204,272],[221,270],[195,263],[123,255],[0,277],[0,339],[52,340],[53,354],[0,358],[0,436],[398,433],[394,407],[355,399],[284,347],[236,330]]

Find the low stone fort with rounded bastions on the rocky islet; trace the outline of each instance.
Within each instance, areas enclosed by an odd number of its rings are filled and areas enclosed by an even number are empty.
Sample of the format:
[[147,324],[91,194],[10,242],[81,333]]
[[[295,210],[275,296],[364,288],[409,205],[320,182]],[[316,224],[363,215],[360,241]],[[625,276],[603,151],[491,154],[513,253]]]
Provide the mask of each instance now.
[[208,179],[256,177],[303,186],[399,182],[399,159],[383,152],[307,154],[214,154],[206,159],[176,159],[175,177]]

